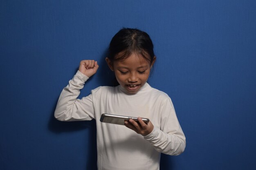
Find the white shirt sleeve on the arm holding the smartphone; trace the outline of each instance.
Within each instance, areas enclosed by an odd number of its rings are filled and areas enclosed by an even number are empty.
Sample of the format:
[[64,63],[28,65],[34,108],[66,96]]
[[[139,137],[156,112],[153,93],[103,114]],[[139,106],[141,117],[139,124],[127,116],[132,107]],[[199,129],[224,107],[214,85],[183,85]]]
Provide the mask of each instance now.
[[186,138],[177,119],[171,99],[166,99],[161,106],[161,129],[155,128],[144,139],[155,150],[167,155],[180,155],[186,147]]

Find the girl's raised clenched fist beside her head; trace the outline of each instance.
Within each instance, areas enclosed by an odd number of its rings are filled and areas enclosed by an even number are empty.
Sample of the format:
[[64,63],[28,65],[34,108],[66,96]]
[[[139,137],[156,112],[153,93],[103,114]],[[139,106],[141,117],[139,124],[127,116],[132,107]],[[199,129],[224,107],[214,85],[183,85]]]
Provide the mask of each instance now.
[[87,77],[91,77],[94,75],[99,68],[97,61],[94,60],[82,60],[79,65],[79,71],[86,75]]

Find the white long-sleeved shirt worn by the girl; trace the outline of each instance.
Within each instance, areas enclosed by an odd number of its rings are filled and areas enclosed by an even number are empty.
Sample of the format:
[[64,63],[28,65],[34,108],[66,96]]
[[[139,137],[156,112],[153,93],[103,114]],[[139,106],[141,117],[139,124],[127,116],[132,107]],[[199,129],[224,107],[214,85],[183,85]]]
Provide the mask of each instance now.
[[[54,116],[60,121],[96,119],[98,170],[159,170],[160,152],[184,151],[186,139],[166,93],[148,83],[133,95],[121,86],[100,86],[77,99],[87,79],[77,71],[61,92]],[[103,113],[149,118],[154,129],[142,136],[126,126],[100,122]]]

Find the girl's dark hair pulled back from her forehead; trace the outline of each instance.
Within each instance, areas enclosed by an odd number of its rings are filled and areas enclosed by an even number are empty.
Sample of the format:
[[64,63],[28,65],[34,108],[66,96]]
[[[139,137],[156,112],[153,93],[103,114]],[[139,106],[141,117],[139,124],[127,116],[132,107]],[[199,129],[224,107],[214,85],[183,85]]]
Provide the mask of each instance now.
[[126,60],[132,53],[137,53],[150,61],[154,61],[155,53],[149,35],[139,29],[123,28],[112,38],[109,44],[108,58],[111,62]]

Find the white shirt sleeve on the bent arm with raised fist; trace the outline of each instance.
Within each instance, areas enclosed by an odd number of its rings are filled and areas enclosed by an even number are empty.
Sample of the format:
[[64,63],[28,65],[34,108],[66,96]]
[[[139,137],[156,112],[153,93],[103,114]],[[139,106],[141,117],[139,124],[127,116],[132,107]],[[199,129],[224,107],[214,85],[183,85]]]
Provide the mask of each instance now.
[[59,121],[82,121],[94,119],[92,95],[77,99],[80,90],[89,77],[77,71],[73,79],[63,89],[58,99],[54,117]]

